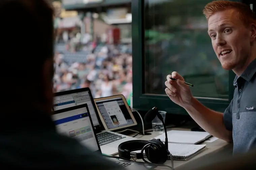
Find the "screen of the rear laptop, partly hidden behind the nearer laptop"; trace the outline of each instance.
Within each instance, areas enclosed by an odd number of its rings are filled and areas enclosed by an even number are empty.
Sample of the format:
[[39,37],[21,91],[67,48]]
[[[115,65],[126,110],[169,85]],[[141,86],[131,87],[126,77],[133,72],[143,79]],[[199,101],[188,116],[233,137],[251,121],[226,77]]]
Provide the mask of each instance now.
[[93,97],[89,88],[81,88],[55,93],[52,110],[55,111],[85,103],[88,105],[90,110],[94,128],[97,131],[101,130],[102,126],[99,122],[100,119],[95,112],[96,106],[94,104]]

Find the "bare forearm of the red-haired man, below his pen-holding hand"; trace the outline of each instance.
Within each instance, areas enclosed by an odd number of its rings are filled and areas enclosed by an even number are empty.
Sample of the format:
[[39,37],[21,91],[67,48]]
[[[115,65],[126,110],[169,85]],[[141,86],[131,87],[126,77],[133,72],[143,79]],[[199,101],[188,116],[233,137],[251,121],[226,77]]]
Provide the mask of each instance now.
[[232,141],[232,131],[226,129],[223,123],[223,113],[205,107],[195,98],[184,109],[205,131],[228,142]]

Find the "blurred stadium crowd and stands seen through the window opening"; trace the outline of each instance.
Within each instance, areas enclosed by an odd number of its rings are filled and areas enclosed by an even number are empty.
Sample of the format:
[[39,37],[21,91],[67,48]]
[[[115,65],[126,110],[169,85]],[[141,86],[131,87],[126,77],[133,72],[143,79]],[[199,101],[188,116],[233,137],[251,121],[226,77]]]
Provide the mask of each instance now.
[[94,98],[122,94],[130,105],[131,2],[66,0],[53,6],[54,92],[89,87]]

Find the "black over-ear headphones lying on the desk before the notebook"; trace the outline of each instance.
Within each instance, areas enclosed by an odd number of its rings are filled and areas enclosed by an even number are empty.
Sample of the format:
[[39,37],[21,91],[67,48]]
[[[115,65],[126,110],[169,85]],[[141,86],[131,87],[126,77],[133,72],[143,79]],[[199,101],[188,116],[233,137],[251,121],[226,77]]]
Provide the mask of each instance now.
[[[139,153],[133,151],[141,150]],[[143,152],[145,151],[145,157],[155,164],[163,164],[167,160],[169,151],[165,148],[165,145],[160,139],[151,140],[129,140],[121,143],[118,146],[118,154],[120,158],[125,159],[142,159],[144,162],[150,163],[145,160]]]

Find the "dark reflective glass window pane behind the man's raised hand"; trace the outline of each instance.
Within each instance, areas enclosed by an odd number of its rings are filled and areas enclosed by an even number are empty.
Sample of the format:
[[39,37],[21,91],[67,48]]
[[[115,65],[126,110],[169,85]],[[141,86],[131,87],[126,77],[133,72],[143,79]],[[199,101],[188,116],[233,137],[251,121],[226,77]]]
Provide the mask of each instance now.
[[145,91],[165,95],[166,75],[179,72],[195,97],[228,99],[228,71],[207,34],[202,14],[212,0],[145,1]]

